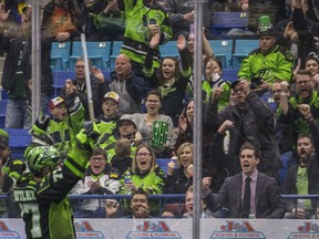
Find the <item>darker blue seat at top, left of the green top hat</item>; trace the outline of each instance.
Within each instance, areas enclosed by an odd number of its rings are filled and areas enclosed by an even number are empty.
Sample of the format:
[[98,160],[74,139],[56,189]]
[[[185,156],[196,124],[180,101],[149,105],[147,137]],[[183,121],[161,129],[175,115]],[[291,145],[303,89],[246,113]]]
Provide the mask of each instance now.
[[212,30],[214,35],[227,38],[230,29],[246,29],[248,12],[218,12],[213,13]]

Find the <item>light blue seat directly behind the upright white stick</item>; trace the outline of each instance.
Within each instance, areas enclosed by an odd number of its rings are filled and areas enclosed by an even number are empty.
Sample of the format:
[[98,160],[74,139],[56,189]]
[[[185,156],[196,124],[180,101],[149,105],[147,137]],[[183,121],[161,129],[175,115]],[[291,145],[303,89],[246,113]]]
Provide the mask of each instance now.
[[[88,58],[92,61],[92,64],[100,70],[110,69],[110,55],[111,55],[111,42],[86,42]],[[83,49],[81,42],[72,43],[72,54],[70,55],[70,70],[75,69],[75,62],[78,58],[83,56]]]

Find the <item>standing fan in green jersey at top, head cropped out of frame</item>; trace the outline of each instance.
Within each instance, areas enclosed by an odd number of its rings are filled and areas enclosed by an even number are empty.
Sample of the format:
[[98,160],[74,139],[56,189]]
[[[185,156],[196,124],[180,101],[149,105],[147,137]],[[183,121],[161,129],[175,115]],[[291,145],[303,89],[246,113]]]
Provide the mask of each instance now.
[[[121,10],[124,10],[126,23],[121,53],[131,59],[133,72],[143,77],[143,65],[152,37],[158,33],[161,35],[160,44],[166,43],[172,38],[168,14],[154,0],[136,0],[134,2],[120,0],[119,6],[121,6]],[[154,49],[151,63],[152,67],[160,67],[158,45]]]

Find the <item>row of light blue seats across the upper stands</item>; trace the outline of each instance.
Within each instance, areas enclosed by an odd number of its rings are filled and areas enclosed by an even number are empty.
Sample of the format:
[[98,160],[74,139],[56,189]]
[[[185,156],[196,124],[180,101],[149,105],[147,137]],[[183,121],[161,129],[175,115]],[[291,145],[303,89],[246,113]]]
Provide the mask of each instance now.
[[[240,67],[243,59],[258,48],[258,40],[224,39],[209,40],[216,58],[224,69]],[[120,53],[122,41],[86,42],[88,58],[96,67],[107,71],[114,70],[116,55]],[[51,51],[52,71],[74,71],[75,61],[83,55],[81,42],[53,42]],[[160,46],[162,58],[178,56],[176,41],[169,41]]]

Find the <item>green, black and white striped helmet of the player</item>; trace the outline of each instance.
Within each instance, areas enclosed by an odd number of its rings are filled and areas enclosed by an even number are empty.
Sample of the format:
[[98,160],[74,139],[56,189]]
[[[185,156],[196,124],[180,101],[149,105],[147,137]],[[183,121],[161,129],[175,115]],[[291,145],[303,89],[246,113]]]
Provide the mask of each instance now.
[[43,167],[52,169],[59,159],[60,153],[53,146],[38,146],[25,155],[28,167],[33,175],[41,175]]

